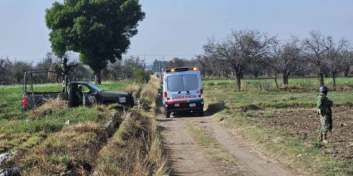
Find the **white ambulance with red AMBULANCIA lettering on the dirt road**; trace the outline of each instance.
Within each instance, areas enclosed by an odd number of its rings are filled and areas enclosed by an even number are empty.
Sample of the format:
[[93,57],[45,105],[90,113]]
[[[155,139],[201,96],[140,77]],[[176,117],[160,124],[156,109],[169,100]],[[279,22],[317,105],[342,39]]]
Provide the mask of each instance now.
[[203,115],[203,89],[198,67],[165,70],[163,74],[163,108],[166,118],[174,112],[194,112]]

